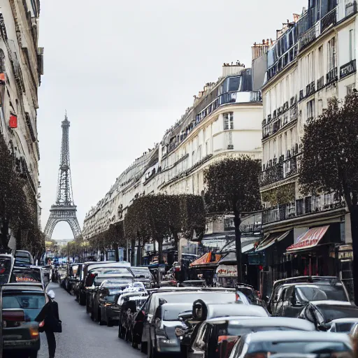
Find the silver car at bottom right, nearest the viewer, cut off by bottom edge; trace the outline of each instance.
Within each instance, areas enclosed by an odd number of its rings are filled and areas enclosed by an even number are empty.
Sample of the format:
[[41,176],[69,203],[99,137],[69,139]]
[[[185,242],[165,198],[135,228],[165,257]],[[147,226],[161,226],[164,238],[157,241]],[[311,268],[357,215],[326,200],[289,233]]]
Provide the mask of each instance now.
[[291,354],[310,355],[310,357],[343,357],[344,352],[352,353],[352,343],[345,334],[267,331],[242,336],[232,350],[230,358],[275,357],[275,355],[292,357]]

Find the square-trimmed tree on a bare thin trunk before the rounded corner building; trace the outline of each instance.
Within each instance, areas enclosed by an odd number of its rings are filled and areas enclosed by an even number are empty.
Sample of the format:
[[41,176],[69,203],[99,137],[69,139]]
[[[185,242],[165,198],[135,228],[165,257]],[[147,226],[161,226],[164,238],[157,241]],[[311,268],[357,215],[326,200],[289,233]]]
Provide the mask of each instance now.
[[238,282],[243,282],[241,264],[241,213],[259,210],[260,162],[248,156],[231,157],[211,164],[204,173],[209,213],[234,213]]

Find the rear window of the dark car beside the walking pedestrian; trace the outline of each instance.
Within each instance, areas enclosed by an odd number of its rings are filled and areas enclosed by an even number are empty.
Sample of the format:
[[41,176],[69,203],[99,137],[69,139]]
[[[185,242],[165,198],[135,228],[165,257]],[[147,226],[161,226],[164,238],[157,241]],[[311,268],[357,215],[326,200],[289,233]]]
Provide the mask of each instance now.
[[4,292],[3,309],[22,308],[26,321],[34,321],[45,305],[45,294],[34,292]]

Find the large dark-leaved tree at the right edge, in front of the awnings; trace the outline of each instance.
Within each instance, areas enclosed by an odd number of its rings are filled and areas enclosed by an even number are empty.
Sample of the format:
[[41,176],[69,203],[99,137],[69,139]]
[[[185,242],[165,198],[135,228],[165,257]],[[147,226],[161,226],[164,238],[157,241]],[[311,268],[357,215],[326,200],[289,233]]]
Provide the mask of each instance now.
[[306,124],[299,183],[303,194],[336,194],[350,212],[353,282],[358,304],[358,93],[331,99],[316,120]]

